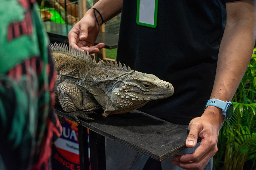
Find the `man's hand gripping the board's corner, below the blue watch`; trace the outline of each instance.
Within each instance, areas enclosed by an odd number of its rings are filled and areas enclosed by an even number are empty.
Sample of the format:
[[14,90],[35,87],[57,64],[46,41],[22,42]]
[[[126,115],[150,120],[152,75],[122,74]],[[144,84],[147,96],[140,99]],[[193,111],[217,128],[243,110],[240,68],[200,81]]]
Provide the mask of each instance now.
[[217,142],[223,121],[221,109],[214,106],[208,106],[201,117],[192,119],[188,126],[186,146],[195,147],[198,137],[201,143],[194,153],[174,156],[172,163],[184,169],[204,169],[218,151]]

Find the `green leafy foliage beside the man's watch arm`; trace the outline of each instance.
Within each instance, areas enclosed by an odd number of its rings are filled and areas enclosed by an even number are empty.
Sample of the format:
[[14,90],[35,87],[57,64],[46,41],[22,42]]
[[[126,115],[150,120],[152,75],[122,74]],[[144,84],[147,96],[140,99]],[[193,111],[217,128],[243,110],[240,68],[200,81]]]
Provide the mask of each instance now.
[[234,114],[225,121],[219,133],[218,152],[213,157],[213,169],[242,170],[253,160],[256,169],[256,49],[250,64],[232,99]]

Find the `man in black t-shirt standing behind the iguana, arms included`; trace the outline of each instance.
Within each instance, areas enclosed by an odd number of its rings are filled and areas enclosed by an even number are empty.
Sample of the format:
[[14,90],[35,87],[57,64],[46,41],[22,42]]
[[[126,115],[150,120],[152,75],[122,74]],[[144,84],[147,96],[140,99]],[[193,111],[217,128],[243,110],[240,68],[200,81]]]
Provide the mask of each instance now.
[[[90,53],[99,26],[121,12],[117,60],[132,69],[155,74],[171,82],[174,95],[152,101],[142,111],[175,124],[188,125],[186,146],[199,147],[191,154],[176,155],[172,163],[185,169],[203,169],[217,152],[222,110],[207,99],[230,101],[239,85],[254,47],[255,2],[167,1],[158,2],[155,28],[138,25],[137,1],[100,0],[69,33],[69,43]],[[99,15],[101,14],[101,15]],[[98,24],[97,24],[98,23]],[[125,155],[125,154],[124,154]]]

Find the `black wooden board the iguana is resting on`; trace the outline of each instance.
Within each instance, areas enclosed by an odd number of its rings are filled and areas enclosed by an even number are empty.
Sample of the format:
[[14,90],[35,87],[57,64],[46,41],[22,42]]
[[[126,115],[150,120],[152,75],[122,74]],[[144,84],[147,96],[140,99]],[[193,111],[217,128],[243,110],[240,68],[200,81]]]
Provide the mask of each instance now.
[[[58,115],[74,121],[69,116],[73,112],[63,112],[60,107],[55,109]],[[109,115],[107,118],[101,114],[90,115],[90,117],[95,120],[80,119],[80,125],[158,161],[186,149],[187,129],[138,110]]]

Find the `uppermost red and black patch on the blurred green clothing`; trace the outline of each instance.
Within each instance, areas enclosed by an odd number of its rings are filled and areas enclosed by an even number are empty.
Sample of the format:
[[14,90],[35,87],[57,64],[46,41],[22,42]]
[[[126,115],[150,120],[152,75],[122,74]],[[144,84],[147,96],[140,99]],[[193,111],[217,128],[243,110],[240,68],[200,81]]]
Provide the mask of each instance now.
[[18,38],[21,35],[32,35],[32,21],[29,11],[25,13],[23,21],[10,23],[8,26],[7,40],[11,41],[14,38]]

